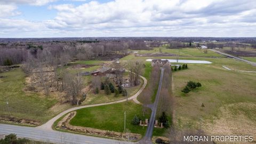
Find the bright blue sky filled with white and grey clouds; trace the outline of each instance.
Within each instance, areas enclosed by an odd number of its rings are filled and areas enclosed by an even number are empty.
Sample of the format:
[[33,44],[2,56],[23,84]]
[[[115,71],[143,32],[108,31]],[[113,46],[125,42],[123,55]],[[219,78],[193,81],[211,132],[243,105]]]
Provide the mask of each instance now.
[[256,37],[255,0],[0,0],[0,37]]

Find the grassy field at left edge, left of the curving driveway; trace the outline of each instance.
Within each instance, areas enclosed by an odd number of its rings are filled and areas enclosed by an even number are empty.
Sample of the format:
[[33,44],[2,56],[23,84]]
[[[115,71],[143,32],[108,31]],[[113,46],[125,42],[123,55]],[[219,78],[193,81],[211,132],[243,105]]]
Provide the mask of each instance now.
[[[0,116],[14,116],[24,119],[35,119],[41,123],[59,113],[52,113],[49,109],[57,100],[47,98],[38,93],[25,93],[25,73],[21,68],[15,68],[0,73]],[[7,111],[6,101],[9,102],[10,113]]]

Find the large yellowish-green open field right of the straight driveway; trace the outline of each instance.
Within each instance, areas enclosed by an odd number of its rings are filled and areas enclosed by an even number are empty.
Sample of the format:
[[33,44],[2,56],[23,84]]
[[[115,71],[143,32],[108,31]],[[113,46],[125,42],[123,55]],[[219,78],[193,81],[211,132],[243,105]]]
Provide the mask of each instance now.
[[[229,71],[221,68],[221,65],[247,70],[255,70],[255,67],[234,59],[209,61],[213,63],[190,64],[188,70],[173,73],[175,125],[180,128],[202,126],[209,134],[250,133],[255,137],[255,74]],[[200,82],[202,87],[184,94],[181,90],[187,81]],[[205,107],[201,107],[202,103]],[[221,126],[225,126],[225,129]]]

